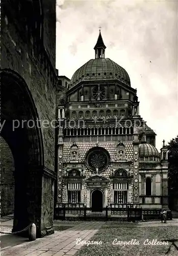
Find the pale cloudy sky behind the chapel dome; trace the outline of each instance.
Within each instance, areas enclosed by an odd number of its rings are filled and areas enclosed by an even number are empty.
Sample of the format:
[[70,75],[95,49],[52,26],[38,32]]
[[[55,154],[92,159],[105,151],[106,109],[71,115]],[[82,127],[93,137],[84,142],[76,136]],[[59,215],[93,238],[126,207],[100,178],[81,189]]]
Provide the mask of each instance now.
[[59,75],[71,79],[94,58],[99,26],[105,57],[128,72],[160,150],[178,135],[178,1],[57,0]]

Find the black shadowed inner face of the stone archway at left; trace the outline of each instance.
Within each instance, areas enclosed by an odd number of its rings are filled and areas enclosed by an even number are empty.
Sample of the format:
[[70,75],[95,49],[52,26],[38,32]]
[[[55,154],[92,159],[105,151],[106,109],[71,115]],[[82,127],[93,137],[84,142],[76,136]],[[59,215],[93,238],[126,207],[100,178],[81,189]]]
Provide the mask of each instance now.
[[[51,180],[47,185],[44,183],[43,140],[36,106],[26,82],[9,70],[1,72],[1,99],[1,136],[10,147],[15,168],[12,231],[22,230],[34,222],[37,237],[41,237],[46,234],[45,225],[49,219],[53,226],[54,184]],[[46,189],[51,202],[44,212],[46,186],[50,186]]]

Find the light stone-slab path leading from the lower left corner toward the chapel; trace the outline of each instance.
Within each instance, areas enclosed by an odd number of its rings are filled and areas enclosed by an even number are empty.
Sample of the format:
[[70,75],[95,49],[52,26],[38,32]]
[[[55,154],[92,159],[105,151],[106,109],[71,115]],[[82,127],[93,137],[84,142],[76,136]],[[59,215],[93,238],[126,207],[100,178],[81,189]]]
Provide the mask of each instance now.
[[[50,236],[36,241],[21,240],[21,244],[4,247],[1,256],[69,256],[74,255],[83,245],[77,245],[78,238],[89,240],[103,225],[103,222],[83,222],[64,231],[55,231]],[[11,234],[6,236],[13,236]],[[6,236],[2,236],[5,240]],[[16,239],[16,236],[13,236]],[[7,237],[8,239],[8,237]],[[3,242],[3,241],[2,241]]]

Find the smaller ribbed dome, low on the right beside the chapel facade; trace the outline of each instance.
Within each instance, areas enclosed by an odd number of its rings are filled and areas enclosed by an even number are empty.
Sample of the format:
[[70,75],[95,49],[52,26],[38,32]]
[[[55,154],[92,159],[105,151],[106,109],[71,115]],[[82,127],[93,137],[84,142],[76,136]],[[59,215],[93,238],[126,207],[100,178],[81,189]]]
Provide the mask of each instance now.
[[144,158],[143,161],[158,161],[160,155],[156,147],[147,144],[146,142],[142,142],[139,144],[139,157]]

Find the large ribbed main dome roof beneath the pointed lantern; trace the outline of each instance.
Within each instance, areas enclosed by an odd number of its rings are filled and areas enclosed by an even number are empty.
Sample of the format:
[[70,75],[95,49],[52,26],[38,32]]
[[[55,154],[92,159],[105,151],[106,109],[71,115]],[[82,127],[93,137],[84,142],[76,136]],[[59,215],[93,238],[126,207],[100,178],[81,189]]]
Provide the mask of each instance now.
[[109,58],[90,59],[73,74],[71,87],[82,80],[118,79],[131,86],[128,73]]

